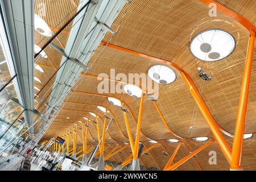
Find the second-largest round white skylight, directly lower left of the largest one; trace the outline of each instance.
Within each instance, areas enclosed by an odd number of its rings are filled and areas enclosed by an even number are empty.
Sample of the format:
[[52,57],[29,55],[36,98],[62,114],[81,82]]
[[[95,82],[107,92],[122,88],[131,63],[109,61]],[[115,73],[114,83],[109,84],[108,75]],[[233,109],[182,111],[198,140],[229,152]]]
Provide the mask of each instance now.
[[159,84],[170,84],[176,79],[175,72],[164,65],[154,65],[147,71],[148,76]]

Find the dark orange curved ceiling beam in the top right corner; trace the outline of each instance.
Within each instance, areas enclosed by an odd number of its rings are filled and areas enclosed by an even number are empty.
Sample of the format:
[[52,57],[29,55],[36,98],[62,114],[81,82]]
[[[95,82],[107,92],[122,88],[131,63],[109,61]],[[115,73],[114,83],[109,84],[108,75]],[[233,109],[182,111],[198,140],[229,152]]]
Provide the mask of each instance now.
[[229,16],[230,18],[236,20],[237,22],[241,23],[242,26],[247,28],[247,30],[249,30],[249,31],[253,30],[254,32],[256,32],[255,26],[251,22],[249,22],[246,18],[244,18],[242,15],[237,14],[234,11],[226,8],[225,6],[220,5],[216,1],[213,1],[213,0],[200,0],[200,1],[205,3],[208,6],[210,5],[210,3],[214,3],[216,5],[216,10],[218,12],[221,12],[222,14],[225,14],[225,15]]

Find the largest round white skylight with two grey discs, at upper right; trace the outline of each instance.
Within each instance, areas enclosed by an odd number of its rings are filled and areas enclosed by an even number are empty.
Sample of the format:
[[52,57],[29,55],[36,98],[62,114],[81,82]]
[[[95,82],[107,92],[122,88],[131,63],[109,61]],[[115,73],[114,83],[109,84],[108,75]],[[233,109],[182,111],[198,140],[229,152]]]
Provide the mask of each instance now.
[[210,29],[197,34],[190,43],[192,54],[203,61],[218,61],[229,56],[236,41],[228,32]]

